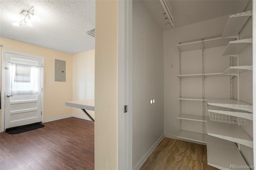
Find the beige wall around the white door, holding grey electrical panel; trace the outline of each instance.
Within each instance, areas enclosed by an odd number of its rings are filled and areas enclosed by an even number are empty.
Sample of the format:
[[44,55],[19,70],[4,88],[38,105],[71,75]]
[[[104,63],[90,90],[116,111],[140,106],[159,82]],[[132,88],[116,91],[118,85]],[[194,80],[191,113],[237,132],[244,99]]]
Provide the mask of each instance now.
[[[72,113],[71,107],[66,107],[66,101],[72,101],[72,55],[0,38],[1,49],[27,53],[44,57],[44,119],[50,119]],[[2,55],[2,53],[0,54]],[[0,57],[0,60],[2,58]],[[66,61],[66,82],[54,81],[54,60]],[[0,69],[1,71],[1,69]],[[0,73],[0,76],[2,74]],[[2,80],[2,79],[1,79]]]

